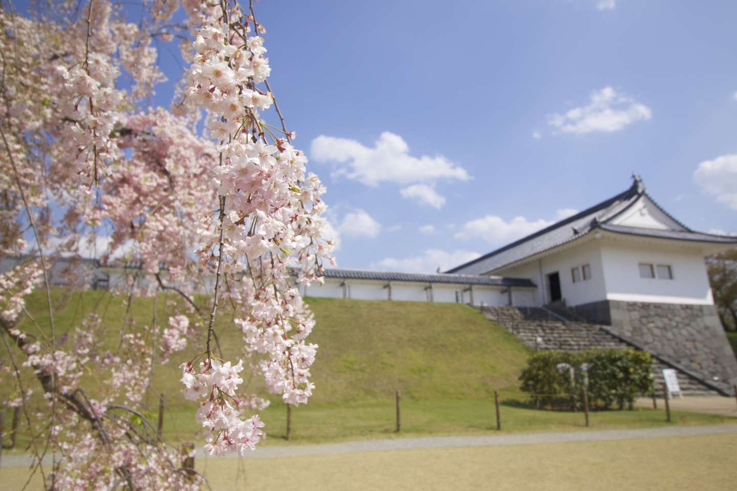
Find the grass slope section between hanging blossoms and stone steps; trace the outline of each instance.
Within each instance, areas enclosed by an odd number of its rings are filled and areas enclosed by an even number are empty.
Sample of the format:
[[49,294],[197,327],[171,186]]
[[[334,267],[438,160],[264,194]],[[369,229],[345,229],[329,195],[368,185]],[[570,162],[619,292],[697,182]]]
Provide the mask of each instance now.
[[517,385],[522,343],[467,305],[308,298],[315,403],[488,398]]

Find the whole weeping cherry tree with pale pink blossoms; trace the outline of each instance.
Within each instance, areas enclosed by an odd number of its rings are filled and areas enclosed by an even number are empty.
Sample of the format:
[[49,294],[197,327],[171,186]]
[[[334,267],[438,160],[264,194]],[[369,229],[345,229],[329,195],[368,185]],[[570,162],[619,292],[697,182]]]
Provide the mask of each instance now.
[[[135,18],[123,3],[36,1],[23,14],[1,4],[0,248],[26,260],[0,275],[0,376],[15,387],[8,404],[22,409],[33,472],[47,488],[200,489],[203,478],[144,417],[153,367],[181,364],[182,397],[197,401],[192,417],[214,455],[251,451],[262,437],[254,411],[265,401],[240,392],[244,370],[285,403],[307,403],[317,346],[298,285],[321,281],[332,261],[325,189],[270,89],[252,1],[144,0]],[[187,64],[168,108],[149,107],[165,81],[153,40],[178,43]],[[156,319],[127,317],[116,348],[90,314],[61,343],[52,262],[79,257],[101,230],[100,260],[125,250],[119,261],[135,266],[119,286],[128,308],[169,291],[181,297],[170,302],[178,311],[161,333]],[[206,277],[209,312],[192,297]],[[35,288],[48,322],[27,311]],[[214,347],[219,305],[234,310],[240,359]],[[23,319],[33,328],[21,329]],[[188,340],[201,353],[181,359]],[[90,374],[97,383],[85,383]],[[39,392],[43,403],[32,406]]]

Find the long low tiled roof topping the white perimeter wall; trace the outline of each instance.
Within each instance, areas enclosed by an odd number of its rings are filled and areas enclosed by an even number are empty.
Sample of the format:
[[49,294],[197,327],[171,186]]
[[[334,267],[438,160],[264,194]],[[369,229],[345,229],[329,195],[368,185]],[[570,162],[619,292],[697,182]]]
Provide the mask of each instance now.
[[535,287],[535,283],[532,283],[532,281],[527,278],[444,274],[423,275],[422,273],[360,271],[357,269],[325,269],[324,277],[338,278],[342,280],[412,281],[416,283],[451,283],[454,285]]

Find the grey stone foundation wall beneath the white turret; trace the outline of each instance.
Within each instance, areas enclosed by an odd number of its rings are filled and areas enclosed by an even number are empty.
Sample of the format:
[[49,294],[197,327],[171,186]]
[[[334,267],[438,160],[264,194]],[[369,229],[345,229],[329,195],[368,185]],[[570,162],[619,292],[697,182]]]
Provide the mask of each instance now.
[[591,322],[610,325],[614,333],[727,392],[732,393],[733,384],[737,384],[737,358],[714,305],[606,300],[579,305],[574,310]]

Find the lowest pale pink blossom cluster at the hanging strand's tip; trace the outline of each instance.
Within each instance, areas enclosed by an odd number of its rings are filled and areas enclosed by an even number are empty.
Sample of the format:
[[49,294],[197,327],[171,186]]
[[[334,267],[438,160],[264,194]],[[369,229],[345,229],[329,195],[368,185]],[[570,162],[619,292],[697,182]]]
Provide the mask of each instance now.
[[202,400],[196,419],[209,431],[205,451],[210,455],[254,450],[262,437],[264,423],[254,415],[248,419],[240,417],[241,402],[235,398],[238,386],[243,379],[238,375],[243,370],[243,362],[231,365],[230,361],[221,363],[216,359],[201,361],[199,370],[192,363],[181,365],[182,378],[188,400]]

